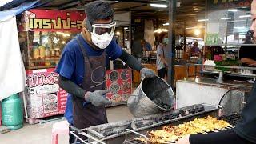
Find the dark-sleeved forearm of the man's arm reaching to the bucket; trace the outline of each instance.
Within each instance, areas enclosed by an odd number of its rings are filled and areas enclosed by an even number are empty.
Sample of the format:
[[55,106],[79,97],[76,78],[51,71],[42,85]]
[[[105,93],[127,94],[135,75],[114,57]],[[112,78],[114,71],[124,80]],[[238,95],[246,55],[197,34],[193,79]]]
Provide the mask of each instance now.
[[140,71],[144,67],[140,62],[138,62],[138,60],[134,56],[126,53],[126,51],[124,50],[122,51],[122,55],[119,58],[133,70]]

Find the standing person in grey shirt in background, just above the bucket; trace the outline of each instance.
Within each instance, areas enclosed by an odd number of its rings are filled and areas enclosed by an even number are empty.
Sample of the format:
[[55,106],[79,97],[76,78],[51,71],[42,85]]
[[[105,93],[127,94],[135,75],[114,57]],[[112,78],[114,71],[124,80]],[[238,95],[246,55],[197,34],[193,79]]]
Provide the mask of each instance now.
[[157,61],[156,61],[156,65],[157,65],[157,70],[158,70],[158,76],[160,78],[165,78],[166,74],[167,74],[167,66],[168,63],[166,61],[166,45],[168,43],[168,38],[167,36],[164,36],[162,38],[162,43],[160,43],[157,47]]

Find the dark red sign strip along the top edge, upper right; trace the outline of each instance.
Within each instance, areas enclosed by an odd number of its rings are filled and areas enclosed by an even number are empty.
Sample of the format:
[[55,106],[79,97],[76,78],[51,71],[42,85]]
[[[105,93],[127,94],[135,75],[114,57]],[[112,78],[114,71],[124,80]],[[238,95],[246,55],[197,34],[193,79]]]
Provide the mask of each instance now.
[[208,10],[230,9],[250,6],[252,0],[207,0]]

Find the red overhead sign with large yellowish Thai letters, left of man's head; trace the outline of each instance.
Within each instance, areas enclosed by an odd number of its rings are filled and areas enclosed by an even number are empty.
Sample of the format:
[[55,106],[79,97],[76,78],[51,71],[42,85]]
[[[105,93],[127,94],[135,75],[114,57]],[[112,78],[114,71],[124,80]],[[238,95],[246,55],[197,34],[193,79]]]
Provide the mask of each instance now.
[[74,31],[82,30],[85,14],[78,11],[27,10],[22,16],[23,31]]

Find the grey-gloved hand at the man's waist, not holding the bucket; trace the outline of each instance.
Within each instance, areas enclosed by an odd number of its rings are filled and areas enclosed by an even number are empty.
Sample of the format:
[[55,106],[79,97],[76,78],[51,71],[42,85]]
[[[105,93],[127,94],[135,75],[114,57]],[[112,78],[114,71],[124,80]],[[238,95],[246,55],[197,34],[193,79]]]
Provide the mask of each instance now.
[[85,99],[91,102],[94,106],[106,106],[110,105],[111,102],[104,97],[110,90],[96,90],[94,92],[88,91],[85,95]]

